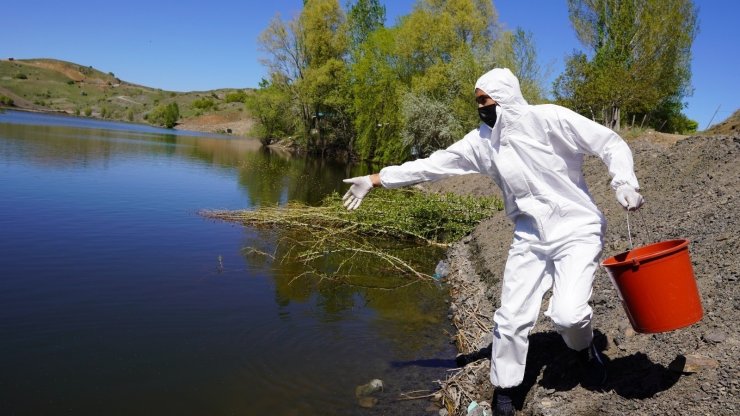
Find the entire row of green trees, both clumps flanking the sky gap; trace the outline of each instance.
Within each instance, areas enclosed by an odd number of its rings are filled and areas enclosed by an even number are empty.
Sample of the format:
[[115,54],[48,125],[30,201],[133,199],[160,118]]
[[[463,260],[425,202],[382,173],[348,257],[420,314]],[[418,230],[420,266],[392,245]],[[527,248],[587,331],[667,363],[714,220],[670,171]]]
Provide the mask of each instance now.
[[[586,47],[567,59],[554,102],[615,130],[636,123],[696,129],[690,94],[691,0],[567,0]],[[491,0],[417,0],[390,27],[379,0],[304,0],[259,44],[269,76],[246,102],[261,138],[310,153],[397,163],[426,156],[478,125],[472,86],[493,67],[519,77],[530,104],[549,102],[531,33],[499,24]]]

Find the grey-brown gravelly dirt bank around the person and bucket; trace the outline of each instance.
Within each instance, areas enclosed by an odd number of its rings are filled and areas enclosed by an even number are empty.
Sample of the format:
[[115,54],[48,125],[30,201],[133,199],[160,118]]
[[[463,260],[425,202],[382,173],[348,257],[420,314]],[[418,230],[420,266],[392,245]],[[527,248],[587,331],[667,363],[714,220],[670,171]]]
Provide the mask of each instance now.
[[[740,136],[689,137],[675,143],[677,138],[669,139],[648,136],[630,141],[646,199],[641,213],[630,217],[632,238],[635,245],[672,238],[691,241],[704,318],[677,331],[636,334],[609,278],[600,270],[591,303],[597,345],[609,359],[605,391],[586,390],[578,384],[572,354],[549,320],[540,316],[530,335],[527,373],[517,403],[521,414],[729,415],[740,411],[740,261],[736,257]],[[629,247],[626,214],[609,187],[605,166],[588,158],[584,173],[609,224],[604,257],[625,251]],[[497,191],[490,179],[480,175],[427,187],[474,194]],[[458,327],[456,339],[462,352],[490,343],[490,317],[499,303],[500,278],[511,238],[512,226],[499,213],[448,253],[453,265],[450,316]],[[470,319],[471,308],[476,309],[473,315],[477,319]],[[676,364],[686,356],[689,360],[692,356],[705,359],[703,366],[691,374],[677,370]],[[490,401],[488,360],[479,361],[469,373],[466,377],[477,385],[465,394]]]

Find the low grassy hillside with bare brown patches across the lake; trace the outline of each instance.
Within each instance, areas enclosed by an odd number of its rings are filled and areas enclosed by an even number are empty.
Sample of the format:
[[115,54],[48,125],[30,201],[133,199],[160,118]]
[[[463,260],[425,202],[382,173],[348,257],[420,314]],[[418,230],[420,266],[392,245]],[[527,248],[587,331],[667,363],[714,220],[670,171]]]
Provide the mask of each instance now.
[[[55,59],[0,60],[0,106],[146,123],[159,105],[176,102],[178,128],[246,134],[252,125],[243,100],[250,89],[174,92],[123,81]],[[12,103],[12,104],[11,104]]]

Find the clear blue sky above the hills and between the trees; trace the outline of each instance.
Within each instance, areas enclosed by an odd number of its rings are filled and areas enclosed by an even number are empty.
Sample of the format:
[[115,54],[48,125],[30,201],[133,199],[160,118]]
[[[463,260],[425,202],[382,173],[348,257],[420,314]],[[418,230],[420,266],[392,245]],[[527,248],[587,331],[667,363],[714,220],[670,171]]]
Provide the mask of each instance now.
[[[2,10],[0,57],[56,58],[129,82],[175,91],[256,87],[265,76],[257,37],[279,13],[300,13],[302,0],[273,1],[9,1]],[[344,5],[346,0],[340,0]],[[388,24],[414,0],[386,0]],[[685,113],[707,127],[740,108],[740,32],[736,0],[695,0],[692,85]],[[565,0],[494,1],[499,21],[534,35],[547,87],[564,58],[582,49]]]

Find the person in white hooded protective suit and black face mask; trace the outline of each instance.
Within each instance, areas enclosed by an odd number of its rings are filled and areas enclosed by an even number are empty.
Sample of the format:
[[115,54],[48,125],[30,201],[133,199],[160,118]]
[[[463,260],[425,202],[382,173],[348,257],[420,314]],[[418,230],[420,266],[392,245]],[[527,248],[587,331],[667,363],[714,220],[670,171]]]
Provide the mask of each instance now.
[[606,164],[624,208],[638,209],[643,198],[632,153],[612,130],[561,106],[528,105],[508,69],[481,76],[475,97],[478,128],[427,158],[345,179],[352,186],[344,204],[357,209],[375,186],[398,188],[469,173],[493,178],[515,226],[501,306],[493,317],[491,383],[496,414],[513,414],[510,388],[523,380],[528,334],[551,288],[546,315],[566,345],[579,351],[595,384],[606,378],[592,342],[588,304],[606,221],[583,178],[583,155],[597,155]]

